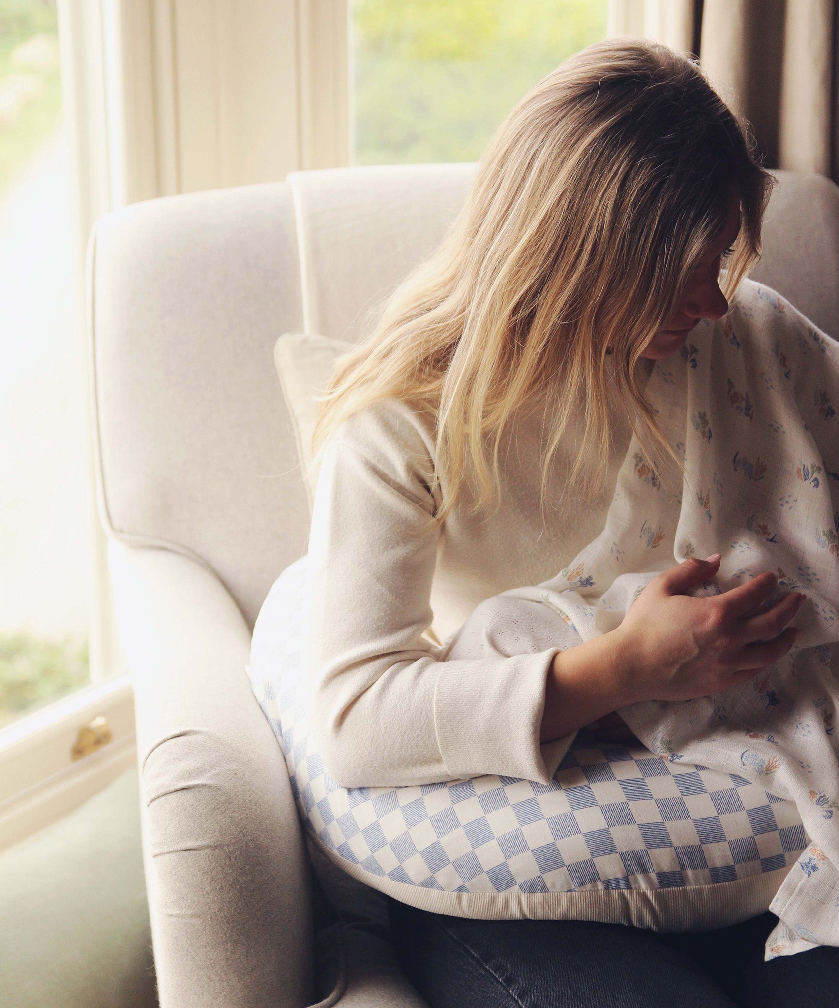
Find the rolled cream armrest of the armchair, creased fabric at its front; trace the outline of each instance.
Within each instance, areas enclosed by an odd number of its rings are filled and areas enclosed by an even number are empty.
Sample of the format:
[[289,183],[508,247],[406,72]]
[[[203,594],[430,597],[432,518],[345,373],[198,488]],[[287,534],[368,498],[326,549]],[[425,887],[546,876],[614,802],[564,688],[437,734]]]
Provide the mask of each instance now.
[[308,864],[251,633],[215,574],[109,540],[134,681],[143,849],[162,1008],[311,1000]]

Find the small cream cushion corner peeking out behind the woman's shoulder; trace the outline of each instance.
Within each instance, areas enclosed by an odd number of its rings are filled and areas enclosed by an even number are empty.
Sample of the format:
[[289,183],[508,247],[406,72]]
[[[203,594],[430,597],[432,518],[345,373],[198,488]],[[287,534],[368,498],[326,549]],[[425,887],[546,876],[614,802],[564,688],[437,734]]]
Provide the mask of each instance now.
[[335,361],[353,346],[345,340],[315,333],[284,333],[274,344],[274,366],[291,417],[309,509],[314,501],[319,468],[312,465],[311,451],[318,397],[332,377]]

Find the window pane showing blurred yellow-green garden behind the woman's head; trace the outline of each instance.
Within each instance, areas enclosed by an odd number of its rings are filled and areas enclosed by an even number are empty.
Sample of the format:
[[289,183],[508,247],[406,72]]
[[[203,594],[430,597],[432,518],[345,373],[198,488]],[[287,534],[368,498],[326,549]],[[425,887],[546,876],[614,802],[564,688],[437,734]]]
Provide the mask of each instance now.
[[605,0],[354,0],[357,164],[471,161],[527,91],[605,38]]

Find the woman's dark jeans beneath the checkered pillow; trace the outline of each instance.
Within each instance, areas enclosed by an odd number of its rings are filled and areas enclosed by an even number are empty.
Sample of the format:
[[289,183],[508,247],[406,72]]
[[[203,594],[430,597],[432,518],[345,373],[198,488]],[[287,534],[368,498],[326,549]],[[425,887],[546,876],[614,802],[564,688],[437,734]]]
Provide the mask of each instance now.
[[659,934],[584,920],[465,920],[389,900],[403,969],[431,1008],[836,1008],[839,950],[763,962],[770,913]]

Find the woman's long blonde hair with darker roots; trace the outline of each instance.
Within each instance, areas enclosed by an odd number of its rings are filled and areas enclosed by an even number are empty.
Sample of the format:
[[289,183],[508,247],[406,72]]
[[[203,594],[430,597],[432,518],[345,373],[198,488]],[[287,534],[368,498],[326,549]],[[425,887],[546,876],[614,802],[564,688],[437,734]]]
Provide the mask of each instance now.
[[466,485],[474,509],[498,501],[504,432],[538,402],[543,498],[580,411],[569,483],[587,496],[605,475],[610,406],[664,444],[636,366],[738,194],[730,297],[759,255],[772,181],[689,59],[641,41],[582,50],[510,113],[446,240],[340,359],[313,448],[378,400],[431,408],[442,520]]

